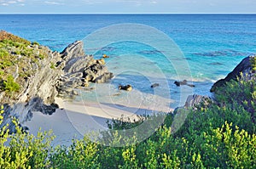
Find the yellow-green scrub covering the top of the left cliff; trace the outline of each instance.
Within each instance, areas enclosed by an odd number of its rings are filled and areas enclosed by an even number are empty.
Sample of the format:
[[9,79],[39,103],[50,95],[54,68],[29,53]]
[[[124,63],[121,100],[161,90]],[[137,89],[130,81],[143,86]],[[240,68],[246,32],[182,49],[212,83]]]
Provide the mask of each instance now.
[[[37,44],[37,42],[34,42]],[[44,50],[31,45],[31,42],[16,37],[5,31],[0,31],[0,89],[9,93],[18,92],[24,84],[24,79],[32,74],[32,64],[38,65],[39,59],[45,58]],[[12,72],[19,67],[19,75],[14,82]],[[36,67],[36,66],[34,66]],[[39,65],[38,65],[39,67]],[[3,73],[4,72],[4,73]]]

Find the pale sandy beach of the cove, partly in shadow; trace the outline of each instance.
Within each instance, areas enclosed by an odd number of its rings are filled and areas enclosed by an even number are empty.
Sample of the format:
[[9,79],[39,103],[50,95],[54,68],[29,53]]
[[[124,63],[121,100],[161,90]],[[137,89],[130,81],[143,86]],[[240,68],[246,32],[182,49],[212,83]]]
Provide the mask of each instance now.
[[[29,127],[29,132],[36,135],[39,128],[42,131],[52,130],[55,134],[53,145],[72,144],[73,138],[83,138],[84,134],[107,130],[106,121],[124,118],[136,119],[137,115],[151,114],[145,107],[125,107],[125,105],[99,104],[83,102],[64,102],[56,99],[60,109],[53,115],[44,115],[41,112],[33,112],[32,120],[23,125]],[[136,114],[134,114],[136,112]],[[166,110],[167,112],[167,110]]]

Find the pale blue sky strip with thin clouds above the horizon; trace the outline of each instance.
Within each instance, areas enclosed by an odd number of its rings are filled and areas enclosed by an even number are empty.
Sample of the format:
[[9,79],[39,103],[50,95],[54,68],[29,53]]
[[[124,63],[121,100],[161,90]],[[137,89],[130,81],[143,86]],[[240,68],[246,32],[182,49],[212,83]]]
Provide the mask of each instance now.
[[0,0],[0,14],[256,14],[256,0]]

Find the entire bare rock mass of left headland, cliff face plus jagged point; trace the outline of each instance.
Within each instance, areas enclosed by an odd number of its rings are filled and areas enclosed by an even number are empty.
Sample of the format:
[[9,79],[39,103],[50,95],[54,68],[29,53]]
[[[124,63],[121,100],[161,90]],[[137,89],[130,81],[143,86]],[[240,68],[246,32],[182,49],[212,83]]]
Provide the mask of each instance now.
[[[33,111],[51,115],[58,108],[55,104],[56,96],[65,98],[77,95],[75,88],[83,87],[84,83],[108,82],[113,74],[108,72],[104,60],[85,55],[83,47],[84,43],[77,41],[58,53],[44,46],[28,46],[35,54],[32,57],[37,60],[26,59],[25,55],[22,57],[26,60],[22,63],[26,65],[15,65],[13,76],[20,84],[19,92],[9,95],[0,88],[0,104],[4,104],[4,118],[0,128],[9,124],[9,131],[15,132],[12,123],[14,117],[22,124],[32,118]],[[44,54],[44,57],[39,58],[38,54]],[[29,76],[23,77],[20,69],[30,72]]]

